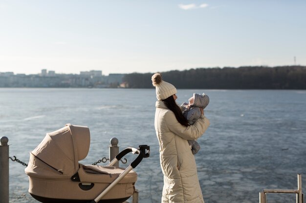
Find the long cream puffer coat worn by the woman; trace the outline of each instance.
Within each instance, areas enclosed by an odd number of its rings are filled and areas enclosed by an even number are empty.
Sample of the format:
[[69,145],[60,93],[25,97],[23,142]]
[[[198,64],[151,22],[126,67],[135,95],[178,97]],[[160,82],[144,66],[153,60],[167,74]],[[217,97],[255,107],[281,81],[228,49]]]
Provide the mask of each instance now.
[[200,137],[209,126],[201,117],[189,127],[178,123],[164,102],[156,102],[155,130],[159,142],[160,166],[164,174],[162,203],[204,203],[197,178],[195,156],[187,140]]

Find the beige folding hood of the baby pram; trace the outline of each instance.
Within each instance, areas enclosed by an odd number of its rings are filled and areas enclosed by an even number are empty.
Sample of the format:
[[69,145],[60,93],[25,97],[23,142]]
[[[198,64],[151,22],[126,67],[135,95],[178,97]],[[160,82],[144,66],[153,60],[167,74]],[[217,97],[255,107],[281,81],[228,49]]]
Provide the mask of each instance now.
[[88,127],[66,124],[46,134],[31,152],[25,173],[36,177],[72,176],[79,169],[78,162],[86,158],[89,145]]

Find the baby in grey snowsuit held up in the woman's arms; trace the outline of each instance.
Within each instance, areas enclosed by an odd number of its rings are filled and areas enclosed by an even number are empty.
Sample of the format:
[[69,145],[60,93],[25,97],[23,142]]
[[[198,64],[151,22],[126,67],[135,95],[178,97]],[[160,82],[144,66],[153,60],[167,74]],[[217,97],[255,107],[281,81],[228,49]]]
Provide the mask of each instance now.
[[[181,105],[181,110],[188,123],[193,125],[201,116],[200,108],[205,109],[205,107],[207,107],[209,103],[209,97],[205,93],[194,93],[193,97],[191,97],[188,101],[188,104],[184,102]],[[198,150],[200,150],[200,145],[196,140],[188,140],[188,144],[191,146],[193,154],[196,154]]]

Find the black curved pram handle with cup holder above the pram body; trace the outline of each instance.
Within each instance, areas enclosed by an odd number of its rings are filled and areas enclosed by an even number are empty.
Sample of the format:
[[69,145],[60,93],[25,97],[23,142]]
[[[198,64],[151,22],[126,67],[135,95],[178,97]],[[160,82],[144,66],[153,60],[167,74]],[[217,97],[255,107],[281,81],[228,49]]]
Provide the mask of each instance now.
[[135,168],[143,158],[150,156],[150,146],[140,145],[138,149],[136,148],[125,148],[123,149],[109,164],[108,166],[113,166],[120,159],[122,159],[126,154],[132,152],[133,154],[138,154],[137,158],[130,164],[132,168]]

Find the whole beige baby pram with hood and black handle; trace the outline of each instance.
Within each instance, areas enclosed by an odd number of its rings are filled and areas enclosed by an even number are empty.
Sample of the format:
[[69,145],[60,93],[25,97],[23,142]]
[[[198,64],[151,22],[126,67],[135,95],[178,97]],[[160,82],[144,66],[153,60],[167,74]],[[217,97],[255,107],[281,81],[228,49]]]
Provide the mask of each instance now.
[[[149,146],[126,148],[108,166],[82,165],[89,151],[90,133],[85,126],[67,124],[47,133],[30,153],[25,173],[29,193],[42,203],[123,203],[134,193],[135,168],[149,157]],[[113,166],[132,152],[137,158],[127,168]]]

